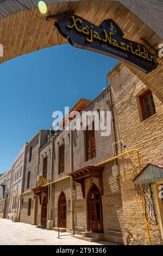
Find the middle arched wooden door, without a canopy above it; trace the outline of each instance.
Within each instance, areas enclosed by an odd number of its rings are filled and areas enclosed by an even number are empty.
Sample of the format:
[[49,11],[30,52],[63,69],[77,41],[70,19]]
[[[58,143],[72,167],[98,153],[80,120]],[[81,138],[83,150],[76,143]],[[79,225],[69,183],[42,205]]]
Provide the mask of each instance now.
[[59,227],[66,228],[66,197],[64,192],[59,197]]

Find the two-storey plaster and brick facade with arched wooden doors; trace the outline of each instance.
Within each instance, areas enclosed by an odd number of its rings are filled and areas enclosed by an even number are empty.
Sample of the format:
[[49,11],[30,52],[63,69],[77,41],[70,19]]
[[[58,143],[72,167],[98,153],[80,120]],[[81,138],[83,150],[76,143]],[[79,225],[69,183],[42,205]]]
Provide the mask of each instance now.
[[[73,109],[74,111],[82,109],[83,105],[79,106],[80,102],[83,103],[80,100],[76,109]],[[87,106],[84,105],[82,110],[95,111],[98,117],[99,111],[109,111],[108,90],[105,89],[95,100],[86,101],[86,104]],[[83,111],[80,112],[80,116]],[[74,123],[76,118],[73,119]],[[64,125],[66,127],[67,124]],[[126,243],[126,237],[123,236],[124,221],[120,183],[116,176],[112,175],[114,162],[95,167],[96,164],[114,156],[112,136],[103,137],[101,131],[95,130],[96,154],[88,160],[86,132],[86,130],[68,131],[64,129],[49,141],[47,141],[48,133],[45,133],[45,139],[40,145],[41,133],[39,133],[28,143],[20,221],[42,226],[47,224],[48,229],[54,227],[54,230],[60,226],[61,230],[72,232],[74,215],[76,233],[82,234],[84,231],[93,229],[104,232],[103,239],[105,240]],[[63,146],[64,164],[61,163]],[[73,175],[70,173],[80,175],[80,172],[84,173],[82,180],[73,181]],[[51,188],[40,186],[38,176],[45,176],[47,182],[53,181]],[[96,193],[91,192],[91,189]],[[89,203],[90,193],[98,197],[93,206]],[[65,204],[62,204],[64,200]],[[91,213],[90,206],[93,211]],[[95,209],[95,206],[98,209]],[[96,211],[97,214],[94,216]],[[95,220],[90,220],[90,214]],[[97,226],[94,223],[96,221]],[[48,222],[51,223],[51,228]]]

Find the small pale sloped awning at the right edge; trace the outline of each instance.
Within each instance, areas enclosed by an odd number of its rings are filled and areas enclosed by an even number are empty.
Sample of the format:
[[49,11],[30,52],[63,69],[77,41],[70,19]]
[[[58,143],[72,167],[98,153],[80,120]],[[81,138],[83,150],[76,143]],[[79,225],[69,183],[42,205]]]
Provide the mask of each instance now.
[[153,184],[163,181],[163,161],[148,163],[133,181],[137,184]]

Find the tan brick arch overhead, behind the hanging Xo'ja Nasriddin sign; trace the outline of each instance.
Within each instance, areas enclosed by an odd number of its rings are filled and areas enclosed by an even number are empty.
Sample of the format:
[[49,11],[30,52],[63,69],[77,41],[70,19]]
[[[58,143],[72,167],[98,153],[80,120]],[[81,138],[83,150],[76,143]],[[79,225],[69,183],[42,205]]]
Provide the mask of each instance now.
[[[0,44],[4,57],[0,63],[42,48],[65,44],[54,27],[54,21],[43,20],[37,8],[37,0],[0,0]],[[163,39],[162,0],[45,0],[47,16],[74,12],[76,15],[99,25],[105,19],[113,19],[122,29],[124,38],[141,42],[145,40],[156,52]],[[146,86],[163,102],[163,65],[150,74],[128,66]]]

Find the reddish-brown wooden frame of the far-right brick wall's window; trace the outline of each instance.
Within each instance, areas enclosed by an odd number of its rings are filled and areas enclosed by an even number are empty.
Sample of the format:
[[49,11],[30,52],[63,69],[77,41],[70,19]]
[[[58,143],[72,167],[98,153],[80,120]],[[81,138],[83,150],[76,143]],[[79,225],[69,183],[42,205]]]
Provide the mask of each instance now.
[[145,109],[145,103],[143,102],[143,98],[145,96],[148,97],[148,104],[149,104],[149,109],[150,109],[150,112],[151,112],[151,115],[150,117],[152,117],[152,115],[154,115],[154,111],[153,111],[153,106],[152,106],[152,100],[151,100],[151,90],[146,90],[146,92],[142,93],[140,96],[139,96],[139,102],[140,102],[140,107],[141,107],[141,113],[142,113],[142,119],[143,120],[146,120],[148,119],[149,117],[146,116],[146,109]]

